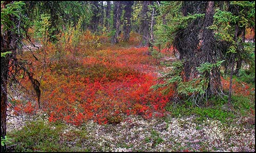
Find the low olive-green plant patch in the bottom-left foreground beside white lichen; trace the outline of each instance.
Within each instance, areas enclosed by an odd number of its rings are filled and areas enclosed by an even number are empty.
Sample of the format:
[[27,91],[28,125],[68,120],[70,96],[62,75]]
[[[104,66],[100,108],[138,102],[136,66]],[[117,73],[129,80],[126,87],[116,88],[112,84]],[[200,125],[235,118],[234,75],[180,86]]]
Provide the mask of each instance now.
[[[27,122],[27,127],[21,130],[13,130],[10,133],[12,140],[17,146],[14,151],[18,152],[76,152],[76,151],[90,151],[81,145],[73,145],[70,147],[68,142],[77,141],[83,143],[82,140],[88,139],[88,133],[82,128],[82,131],[67,129],[67,125],[59,121],[53,123],[45,123],[42,120]],[[67,133],[66,133],[67,132]],[[1,140],[2,143],[2,140]]]

